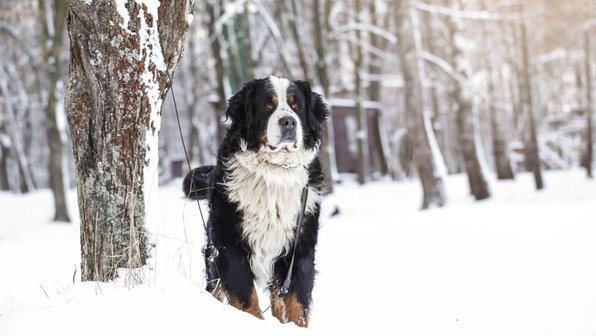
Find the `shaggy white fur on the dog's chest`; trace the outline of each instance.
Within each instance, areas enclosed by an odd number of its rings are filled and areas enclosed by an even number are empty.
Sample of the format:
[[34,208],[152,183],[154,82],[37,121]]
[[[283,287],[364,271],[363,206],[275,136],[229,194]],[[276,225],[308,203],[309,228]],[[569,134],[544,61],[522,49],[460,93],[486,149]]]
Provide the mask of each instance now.
[[[242,151],[226,163],[224,185],[242,211],[242,236],[252,250],[250,266],[260,287],[271,280],[275,259],[289,252],[308,182],[306,167],[315,155],[316,150]],[[287,164],[279,165],[282,161]],[[319,201],[318,193],[309,189],[306,212]]]

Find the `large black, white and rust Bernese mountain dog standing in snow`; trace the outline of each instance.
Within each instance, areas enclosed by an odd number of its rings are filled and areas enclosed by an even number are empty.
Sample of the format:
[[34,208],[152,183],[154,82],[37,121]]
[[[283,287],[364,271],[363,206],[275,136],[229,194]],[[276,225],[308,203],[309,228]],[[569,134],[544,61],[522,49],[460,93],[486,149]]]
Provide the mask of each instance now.
[[270,76],[247,82],[228,101],[231,125],[216,165],[195,168],[183,181],[188,198],[209,202],[207,290],[260,319],[257,287],[269,293],[280,322],[308,326],[327,116],[321,95],[306,81]]

